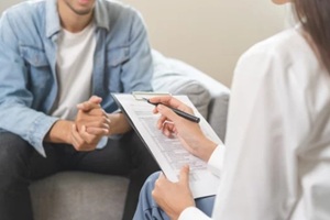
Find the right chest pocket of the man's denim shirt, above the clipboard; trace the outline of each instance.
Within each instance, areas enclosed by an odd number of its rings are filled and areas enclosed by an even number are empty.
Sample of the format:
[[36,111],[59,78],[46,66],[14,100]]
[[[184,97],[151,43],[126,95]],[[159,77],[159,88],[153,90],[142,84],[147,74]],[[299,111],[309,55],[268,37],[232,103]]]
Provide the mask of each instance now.
[[120,46],[107,50],[107,78],[109,80],[109,90],[112,92],[122,92],[122,66],[130,59],[130,47]]

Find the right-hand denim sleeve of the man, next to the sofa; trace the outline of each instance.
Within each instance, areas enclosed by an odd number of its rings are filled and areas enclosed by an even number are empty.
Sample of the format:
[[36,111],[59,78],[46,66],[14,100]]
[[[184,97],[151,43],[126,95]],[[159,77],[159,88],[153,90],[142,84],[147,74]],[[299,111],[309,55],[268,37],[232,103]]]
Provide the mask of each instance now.
[[123,92],[151,91],[153,62],[146,29],[139,12],[132,20],[130,59],[122,66]]

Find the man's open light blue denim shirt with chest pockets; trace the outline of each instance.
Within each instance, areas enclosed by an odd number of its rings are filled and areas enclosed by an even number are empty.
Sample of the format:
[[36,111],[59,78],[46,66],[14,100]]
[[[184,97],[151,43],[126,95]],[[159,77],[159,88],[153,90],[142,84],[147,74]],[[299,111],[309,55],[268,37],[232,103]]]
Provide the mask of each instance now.
[[[152,57],[140,14],[120,3],[97,0],[97,46],[92,95],[107,112],[118,109],[111,92],[152,90]],[[0,132],[20,135],[45,156],[43,140],[58,120],[57,38],[61,21],[56,0],[26,1],[0,20]],[[78,91],[77,91],[78,92]]]

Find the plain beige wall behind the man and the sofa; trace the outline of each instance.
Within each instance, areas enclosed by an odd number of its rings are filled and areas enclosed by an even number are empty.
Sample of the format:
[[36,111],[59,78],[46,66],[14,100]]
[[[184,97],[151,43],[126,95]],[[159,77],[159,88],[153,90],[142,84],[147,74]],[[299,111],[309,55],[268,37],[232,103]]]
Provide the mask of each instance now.
[[[0,12],[21,0],[0,0]],[[271,0],[121,0],[141,11],[152,46],[230,86],[239,56],[285,26]]]

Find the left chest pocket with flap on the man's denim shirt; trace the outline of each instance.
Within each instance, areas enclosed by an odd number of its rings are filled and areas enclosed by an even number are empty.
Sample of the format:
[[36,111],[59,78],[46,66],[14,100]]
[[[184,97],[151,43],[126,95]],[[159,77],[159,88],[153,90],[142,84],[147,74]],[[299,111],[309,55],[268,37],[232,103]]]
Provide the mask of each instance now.
[[28,74],[28,88],[35,97],[47,96],[54,86],[50,62],[43,50],[33,46],[20,46]]

